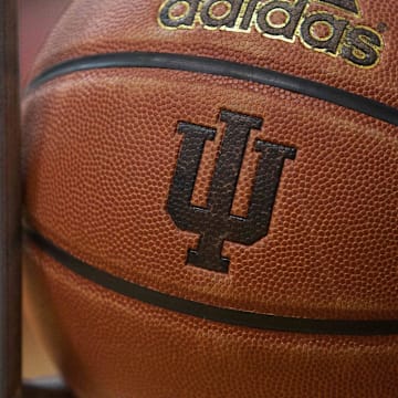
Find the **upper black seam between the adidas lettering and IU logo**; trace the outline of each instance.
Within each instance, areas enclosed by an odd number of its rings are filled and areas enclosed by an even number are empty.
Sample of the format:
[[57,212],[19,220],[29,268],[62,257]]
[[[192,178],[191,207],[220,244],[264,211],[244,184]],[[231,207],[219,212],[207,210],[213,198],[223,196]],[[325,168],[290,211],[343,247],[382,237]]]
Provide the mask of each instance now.
[[74,72],[109,67],[155,67],[233,77],[323,100],[398,126],[398,109],[377,101],[269,69],[184,54],[122,52],[84,56],[43,72],[32,81],[29,91]]

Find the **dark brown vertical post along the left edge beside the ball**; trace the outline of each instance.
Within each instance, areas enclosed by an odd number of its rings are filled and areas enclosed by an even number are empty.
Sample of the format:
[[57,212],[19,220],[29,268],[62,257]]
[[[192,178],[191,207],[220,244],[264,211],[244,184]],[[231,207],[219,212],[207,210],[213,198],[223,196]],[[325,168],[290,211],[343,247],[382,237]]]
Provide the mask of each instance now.
[[20,386],[20,134],[17,2],[0,1],[0,397]]

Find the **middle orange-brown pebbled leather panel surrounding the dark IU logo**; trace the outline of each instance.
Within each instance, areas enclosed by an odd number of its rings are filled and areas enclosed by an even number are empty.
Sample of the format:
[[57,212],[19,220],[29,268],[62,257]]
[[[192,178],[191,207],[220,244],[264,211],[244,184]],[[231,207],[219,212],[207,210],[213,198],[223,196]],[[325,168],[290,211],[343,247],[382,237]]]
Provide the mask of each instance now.
[[[244,216],[250,200],[254,139],[297,148],[284,166],[269,234],[249,247],[224,243],[228,275],[185,265],[198,235],[166,211],[178,121],[219,130],[192,198],[206,206],[224,127],[218,114],[227,106],[264,118],[248,143],[233,213]],[[27,98],[24,117],[33,226],[90,264],[213,305],[320,318],[398,316],[396,127],[282,90],[153,70],[59,78]]]

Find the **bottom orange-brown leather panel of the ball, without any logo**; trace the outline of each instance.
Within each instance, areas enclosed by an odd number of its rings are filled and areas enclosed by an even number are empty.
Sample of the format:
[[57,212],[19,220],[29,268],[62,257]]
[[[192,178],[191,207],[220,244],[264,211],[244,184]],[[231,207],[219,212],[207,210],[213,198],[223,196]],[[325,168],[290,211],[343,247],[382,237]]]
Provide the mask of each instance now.
[[112,293],[34,247],[24,265],[31,311],[78,398],[397,396],[397,336],[231,327]]

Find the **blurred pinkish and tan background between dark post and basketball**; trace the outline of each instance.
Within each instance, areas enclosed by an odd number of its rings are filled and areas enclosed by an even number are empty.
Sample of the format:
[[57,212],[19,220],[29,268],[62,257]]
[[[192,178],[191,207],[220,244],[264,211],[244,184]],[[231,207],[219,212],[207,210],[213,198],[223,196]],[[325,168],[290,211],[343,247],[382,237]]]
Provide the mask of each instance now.
[[[45,38],[61,18],[71,0],[18,0],[20,38],[21,96],[29,84],[30,70]],[[42,342],[34,334],[29,317],[29,303],[23,303],[23,377],[45,377],[56,373],[45,354]]]

